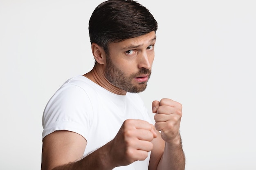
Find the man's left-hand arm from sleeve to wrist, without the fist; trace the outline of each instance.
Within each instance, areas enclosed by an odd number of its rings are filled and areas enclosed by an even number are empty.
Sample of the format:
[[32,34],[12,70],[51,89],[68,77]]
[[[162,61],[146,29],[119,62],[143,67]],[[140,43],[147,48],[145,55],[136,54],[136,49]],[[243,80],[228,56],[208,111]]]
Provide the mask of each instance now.
[[86,145],[75,132],[60,130],[47,135],[43,139],[41,170],[112,169],[107,160],[108,144],[82,159]]

